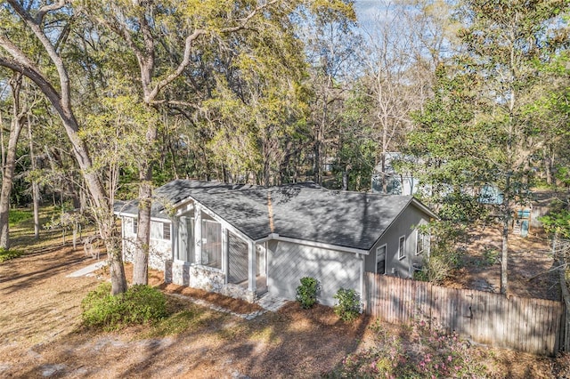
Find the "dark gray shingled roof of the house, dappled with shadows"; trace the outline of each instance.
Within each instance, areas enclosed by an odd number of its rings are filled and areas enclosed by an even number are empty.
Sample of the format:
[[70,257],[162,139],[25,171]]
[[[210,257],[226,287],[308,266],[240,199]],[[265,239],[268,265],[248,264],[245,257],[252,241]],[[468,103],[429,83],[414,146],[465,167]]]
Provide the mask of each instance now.
[[[253,240],[277,233],[362,250],[370,250],[409,204],[435,216],[411,196],[322,189],[312,183],[260,187],[176,180],[156,189],[154,197],[153,217],[167,218],[165,203],[176,207],[194,199]],[[135,202],[115,208],[137,214]]]

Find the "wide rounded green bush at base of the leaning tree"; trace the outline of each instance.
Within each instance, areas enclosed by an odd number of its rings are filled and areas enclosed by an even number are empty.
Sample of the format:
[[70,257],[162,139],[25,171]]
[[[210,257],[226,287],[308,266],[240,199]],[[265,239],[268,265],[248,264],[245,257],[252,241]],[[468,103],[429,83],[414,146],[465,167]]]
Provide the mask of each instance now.
[[86,327],[116,330],[128,325],[157,321],[167,316],[167,299],[151,286],[131,286],[125,294],[111,295],[110,283],[102,283],[81,302]]

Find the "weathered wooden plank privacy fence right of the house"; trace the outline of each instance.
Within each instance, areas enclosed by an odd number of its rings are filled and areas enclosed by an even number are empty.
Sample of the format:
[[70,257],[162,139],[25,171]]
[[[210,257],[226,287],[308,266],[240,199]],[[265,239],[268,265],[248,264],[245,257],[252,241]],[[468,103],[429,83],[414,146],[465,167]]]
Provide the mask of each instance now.
[[434,286],[367,272],[365,312],[392,323],[431,321],[476,343],[554,355],[563,333],[562,302]]

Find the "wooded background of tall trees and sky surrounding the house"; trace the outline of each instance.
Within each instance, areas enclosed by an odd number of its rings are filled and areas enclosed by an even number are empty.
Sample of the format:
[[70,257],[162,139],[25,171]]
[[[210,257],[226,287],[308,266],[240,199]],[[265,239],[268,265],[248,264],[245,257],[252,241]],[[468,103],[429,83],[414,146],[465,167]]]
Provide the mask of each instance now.
[[[139,200],[134,282],[145,282],[152,188],[368,190],[376,170],[387,189],[397,151],[398,173],[419,178],[448,227],[501,222],[506,293],[513,210],[534,186],[567,193],[570,181],[569,8],[379,1],[361,25],[350,0],[7,0],[0,246],[10,206],[88,209],[118,293],[115,199]],[[501,204],[482,204],[485,186]],[[564,196],[557,209],[567,231]],[[442,230],[445,255],[455,231]]]

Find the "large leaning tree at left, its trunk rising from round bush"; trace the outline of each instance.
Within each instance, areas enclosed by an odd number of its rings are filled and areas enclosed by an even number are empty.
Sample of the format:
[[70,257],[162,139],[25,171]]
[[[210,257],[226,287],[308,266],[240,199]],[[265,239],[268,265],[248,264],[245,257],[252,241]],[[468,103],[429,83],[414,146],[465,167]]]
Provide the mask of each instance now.
[[[64,0],[45,5],[29,4],[28,8],[17,0],[8,0],[0,12],[3,21],[0,29],[0,66],[18,71],[34,82],[61,118],[73,155],[91,193],[93,214],[110,258],[111,292],[123,293],[126,291],[126,278],[113,208],[102,181],[93,169],[89,149],[79,136],[81,127],[74,112],[69,72],[59,46],[66,36],[66,28],[70,26],[72,10]],[[52,17],[53,22],[46,22],[46,16]],[[53,28],[53,25],[56,27]],[[41,46],[42,60],[34,60],[23,50],[23,45],[29,42],[29,39],[21,38],[24,31],[33,34],[34,41]],[[20,39],[14,37],[16,32],[21,33]]]

